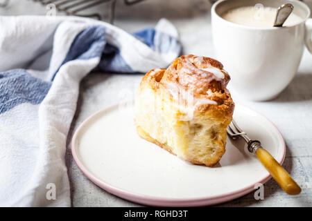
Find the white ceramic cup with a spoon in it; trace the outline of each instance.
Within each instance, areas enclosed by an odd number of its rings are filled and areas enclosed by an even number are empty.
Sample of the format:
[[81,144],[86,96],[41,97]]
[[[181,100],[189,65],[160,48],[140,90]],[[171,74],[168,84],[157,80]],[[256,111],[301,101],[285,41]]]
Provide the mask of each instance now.
[[[294,6],[302,17],[295,26],[254,28],[226,21],[223,13],[242,6]],[[229,88],[245,99],[264,101],[279,95],[291,82],[302,58],[304,43],[312,52],[310,9],[297,0],[219,0],[211,8],[217,59],[229,72]],[[312,61],[311,61],[312,62]]]

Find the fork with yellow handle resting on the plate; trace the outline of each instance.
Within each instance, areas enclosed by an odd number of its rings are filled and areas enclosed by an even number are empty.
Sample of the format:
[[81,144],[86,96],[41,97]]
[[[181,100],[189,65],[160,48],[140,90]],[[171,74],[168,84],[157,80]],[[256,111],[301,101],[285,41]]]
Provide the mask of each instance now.
[[259,140],[250,140],[247,134],[239,128],[234,119],[227,127],[227,134],[233,140],[243,138],[248,144],[248,151],[254,153],[258,160],[263,164],[266,170],[270,173],[273,179],[281,186],[286,193],[290,195],[297,195],[301,192],[300,186],[293,180],[291,175],[281,167],[281,165],[266,151]]

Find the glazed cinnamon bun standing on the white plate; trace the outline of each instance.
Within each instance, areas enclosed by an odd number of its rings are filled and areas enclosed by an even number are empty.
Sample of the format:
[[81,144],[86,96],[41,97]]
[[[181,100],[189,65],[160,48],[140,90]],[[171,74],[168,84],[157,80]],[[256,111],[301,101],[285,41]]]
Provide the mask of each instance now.
[[135,97],[137,132],[184,160],[213,166],[225,153],[234,111],[229,79],[219,61],[194,55],[150,70]]

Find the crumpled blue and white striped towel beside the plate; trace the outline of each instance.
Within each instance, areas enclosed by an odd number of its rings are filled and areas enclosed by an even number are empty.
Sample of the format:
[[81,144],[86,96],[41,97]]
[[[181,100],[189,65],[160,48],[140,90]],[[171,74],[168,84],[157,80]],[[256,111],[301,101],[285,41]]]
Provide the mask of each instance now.
[[95,68],[168,66],[177,31],[165,19],[130,35],[92,19],[31,16],[0,17],[0,28],[0,206],[70,206],[64,153],[80,80]]

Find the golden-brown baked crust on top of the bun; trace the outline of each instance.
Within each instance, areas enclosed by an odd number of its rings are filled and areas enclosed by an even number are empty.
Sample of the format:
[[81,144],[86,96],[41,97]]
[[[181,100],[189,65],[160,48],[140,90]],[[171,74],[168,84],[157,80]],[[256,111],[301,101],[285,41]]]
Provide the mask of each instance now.
[[[209,72],[206,75],[200,75],[198,70],[209,66],[218,68],[223,73],[224,79],[218,79]],[[187,77],[189,79],[185,80]],[[214,114],[215,117],[224,117],[224,115],[232,116],[234,111],[234,102],[226,88],[229,80],[229,74],[223,70],[223,65],[219,61],[210,57],[183,55],[175,59],[167,69],[150,70],[141,80],[140,86],[144,87],[144,84],[148,84],[154,90],[165,90],[169,83],[174,84],[179,91],[190,91],[193,97],[210,99],[218,104],[202,104],[196,111],[202,113],[209,111],[209,114]],[[207,94],[207,91],[210,93]],[[173,95],[170,96],[173,99]]]

